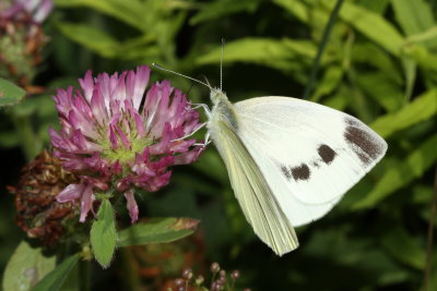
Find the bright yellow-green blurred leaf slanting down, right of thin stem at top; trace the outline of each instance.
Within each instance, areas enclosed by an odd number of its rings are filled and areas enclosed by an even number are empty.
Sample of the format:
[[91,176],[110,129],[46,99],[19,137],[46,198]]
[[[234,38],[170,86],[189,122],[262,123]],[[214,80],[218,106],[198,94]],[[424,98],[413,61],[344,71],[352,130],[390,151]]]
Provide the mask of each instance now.
[[[333,4],[330,0],[323,0],[323,3],[330,8]],[[353,3],[344,2],[339,16],[387,51],[399,56],[404,38],[382,15]]]

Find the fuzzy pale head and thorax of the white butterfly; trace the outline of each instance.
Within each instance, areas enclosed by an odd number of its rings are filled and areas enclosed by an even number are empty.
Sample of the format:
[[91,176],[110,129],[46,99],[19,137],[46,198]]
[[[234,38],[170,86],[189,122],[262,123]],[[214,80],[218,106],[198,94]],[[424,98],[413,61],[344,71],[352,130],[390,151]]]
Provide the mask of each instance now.
[[237,131],[237,114],[234,105],[229,102],[226,94],[221,89],[213,89],[211,90],[211,101],[213,108],[211,111],[211,119],[208,122],[208,128],[213,131],[218,122],[225,121],[234,131]]

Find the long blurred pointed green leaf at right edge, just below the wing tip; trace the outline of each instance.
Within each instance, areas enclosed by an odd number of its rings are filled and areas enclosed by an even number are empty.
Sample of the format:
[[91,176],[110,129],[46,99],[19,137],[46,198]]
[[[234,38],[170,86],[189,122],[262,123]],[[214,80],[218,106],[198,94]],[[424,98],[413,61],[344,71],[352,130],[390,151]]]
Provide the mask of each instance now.
[[379,179],[373,191],[353,205],[353,209],[370,208],[397,190],[420,178],[437,160],[437,135],[421,144],[405,159],[397,161]]

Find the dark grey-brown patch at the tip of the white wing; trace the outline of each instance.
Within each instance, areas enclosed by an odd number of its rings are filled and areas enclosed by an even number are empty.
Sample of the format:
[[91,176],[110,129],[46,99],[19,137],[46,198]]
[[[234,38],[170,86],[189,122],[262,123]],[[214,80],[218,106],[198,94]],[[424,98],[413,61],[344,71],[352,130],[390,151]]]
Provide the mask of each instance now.
[[383,147],[380,142],[368,131],[363,130],[357,121],[346,118],[345,123],[347,126],[343,134],[344,138],[363,163],[369,165],[382,155]]

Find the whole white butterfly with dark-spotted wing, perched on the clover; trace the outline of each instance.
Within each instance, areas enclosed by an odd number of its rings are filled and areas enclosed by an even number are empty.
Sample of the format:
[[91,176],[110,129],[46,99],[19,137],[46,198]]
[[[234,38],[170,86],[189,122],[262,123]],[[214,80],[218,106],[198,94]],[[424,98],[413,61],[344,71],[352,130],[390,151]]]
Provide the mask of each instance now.
[[246,219],[277,255],[298,246],[293,227],[324,216],[386,154],[382,137],[341,111],[291,97],[232,104],[204,85],[213,102],[211,111],[202,105],[206,143],[211,136]]

